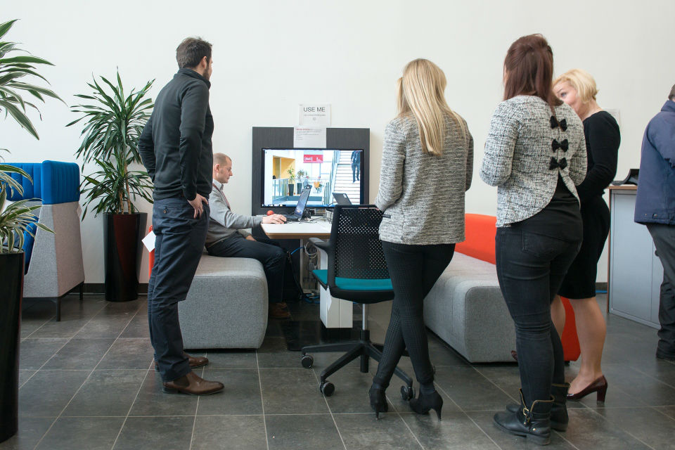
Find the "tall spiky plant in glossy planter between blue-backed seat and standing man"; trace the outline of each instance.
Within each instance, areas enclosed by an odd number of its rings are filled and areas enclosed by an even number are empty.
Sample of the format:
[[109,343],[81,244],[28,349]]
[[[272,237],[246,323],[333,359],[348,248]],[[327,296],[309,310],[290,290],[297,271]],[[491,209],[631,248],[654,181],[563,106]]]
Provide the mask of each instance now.
[[[105,77],[102,83],[87,83],[91,94],[77,94],[91,104],[74,105],[70,109],[82,114],[67,126],[84,120],[82,145],[75,155],[84,165],[90,162],[98,170],[82,181],[84,214],[91,207],[94,216],[103,213],[103,246],[105,255],[105,300],[124,302],[138,298],[141,271],[141,238],[146,231],[148,214],[134,205],[137,198],[153,203],[153,184],[148,173],[132,170],[141,164],[139,136],[145,127],[153,101],[146,98],[153,81],[143,89],[131,89],[125,96],[119,71],[117,83]],[[106,91],[108,86],[109,91]]]

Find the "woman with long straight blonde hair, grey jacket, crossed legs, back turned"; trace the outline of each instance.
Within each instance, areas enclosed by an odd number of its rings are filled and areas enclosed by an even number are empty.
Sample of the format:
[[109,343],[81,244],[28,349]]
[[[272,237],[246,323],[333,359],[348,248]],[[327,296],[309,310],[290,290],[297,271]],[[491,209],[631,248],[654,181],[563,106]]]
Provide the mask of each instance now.
[[398,81],[399,115],[385,129],[380,189],[380,239],[394,302],[383,357],[369,392],[375,416],[387,411],[385,389],[407,349],[420,394],[416,413],[443,399],[434,387],[423,301],[464,240],[464,193],[473,174],[473,138],[445,101],[446,79],[429,60],[408,63]]

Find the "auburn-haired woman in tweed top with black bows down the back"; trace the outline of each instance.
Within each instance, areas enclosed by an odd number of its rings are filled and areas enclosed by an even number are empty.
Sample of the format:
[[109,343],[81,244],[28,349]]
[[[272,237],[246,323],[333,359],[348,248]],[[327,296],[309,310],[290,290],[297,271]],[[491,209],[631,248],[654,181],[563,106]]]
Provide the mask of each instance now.
[[[563,345],[551,302],[579,251],[576,185],[586,175],[584,128],[553,95],[553,52],[540,34],[511,44],[505,101],[497,106],[480,177],[498,186],[496,269],[515,322],[520,406],[494,416],[501,430],[537,444],[567,428]],[[551,399],[555,398],[555,406]],[[552,411],[553,409],[553,411]]]

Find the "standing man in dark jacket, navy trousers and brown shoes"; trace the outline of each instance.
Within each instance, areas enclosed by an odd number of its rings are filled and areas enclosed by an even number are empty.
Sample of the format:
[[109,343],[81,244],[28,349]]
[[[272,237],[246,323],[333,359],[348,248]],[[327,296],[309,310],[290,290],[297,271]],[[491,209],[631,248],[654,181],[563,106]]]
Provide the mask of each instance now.
[[176,60],[179,71],[158,94],[139,139],[143,165],[155,184],[148,323],[164,392],[203,395],[219,392],[223,385],[192,371],[208,360],[183,351],[178,302],[185,300],[195,276],[209,225],[211,44],[188,37],[176,49]]

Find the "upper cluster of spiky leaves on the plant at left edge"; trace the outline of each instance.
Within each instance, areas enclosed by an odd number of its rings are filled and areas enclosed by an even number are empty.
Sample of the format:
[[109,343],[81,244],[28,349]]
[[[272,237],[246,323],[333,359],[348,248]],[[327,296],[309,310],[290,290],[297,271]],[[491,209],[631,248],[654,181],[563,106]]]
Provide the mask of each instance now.
[[[40,139],[37,129],[26,115],[27,106],[34,108],[38,113],[39,109],[34,103],[25,101],[22,94],[30,94],[43,103],[45,96],[61,99],[50,89],[20,81],[23,77],[38,77],[46,82],[46,78],[36,72],[35,65],[53,64],[37,56],[30,56],[30,53],[28,55],[8,56],[9,53],[16,51],[28,53],[18,49],[16,42],[4,42],[2,40],[15,22],[16,20],[10,20],[0,24],[0,113],[4,111],[5,117],[11,115],[21,127],[25,128],[36,139]],[[6,179],[3,178],[1,181],[6,181]]]

